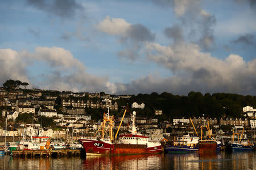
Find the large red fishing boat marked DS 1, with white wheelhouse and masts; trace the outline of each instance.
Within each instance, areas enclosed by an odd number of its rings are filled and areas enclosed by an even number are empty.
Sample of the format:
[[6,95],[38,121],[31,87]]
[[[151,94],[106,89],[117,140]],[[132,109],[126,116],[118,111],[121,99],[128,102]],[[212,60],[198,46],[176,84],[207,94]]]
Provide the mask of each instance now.
[[[126,109],[115,136],[113,135],[114,116],[110,116],[109,112],[107,112],[104,114],[103,122],[94,138],[79,139],[86,151],[86,155],[151,154],[162,152],[160,142],[148,142],[147,136],[137,133],[135,127],[136,112],[132,114],[133,124],[130,134],[121,134],[117,138],[125,113]],[[101,133],[101,138],[96,137],[98,132]]]

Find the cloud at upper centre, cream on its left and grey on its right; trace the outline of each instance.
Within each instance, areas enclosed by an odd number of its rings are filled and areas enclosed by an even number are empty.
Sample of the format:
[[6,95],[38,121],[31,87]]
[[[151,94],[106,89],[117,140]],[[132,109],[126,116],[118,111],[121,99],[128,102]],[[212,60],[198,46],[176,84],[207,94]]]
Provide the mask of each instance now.
[[134,59],[138,56],[139,50],[146,41],[154,41],[155,34],[142,24],[130,24],[121,18],[110,18],[106,16],[104,20],[96,25],[100,32],[108,35],[117,36],[119,42],[124,46],[123,50],[118,52],[121,58]]

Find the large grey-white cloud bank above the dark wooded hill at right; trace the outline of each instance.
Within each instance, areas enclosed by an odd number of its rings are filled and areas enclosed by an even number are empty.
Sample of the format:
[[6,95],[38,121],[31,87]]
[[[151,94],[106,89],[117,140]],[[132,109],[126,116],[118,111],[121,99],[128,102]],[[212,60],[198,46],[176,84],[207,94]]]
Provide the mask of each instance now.
[[235,54],[218,59],[201,52],[200,46],[193,43],[162,46],[148,42],[143,51],[147,59],[166,67],[173,76],[148,75],[130,84],[116,84],[117,91],[170,91],[179,95],[189,91],[256,94],[256,59],[246,62]]

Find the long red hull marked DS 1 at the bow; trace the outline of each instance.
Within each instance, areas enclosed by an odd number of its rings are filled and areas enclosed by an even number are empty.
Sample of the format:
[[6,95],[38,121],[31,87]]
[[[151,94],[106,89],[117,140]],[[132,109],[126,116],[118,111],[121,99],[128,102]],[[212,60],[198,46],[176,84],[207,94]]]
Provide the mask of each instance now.
[[92,139],[80,139],[80,142],[86,151],[86,155],[152,154],[162,152],[162,145],[146,147],[146,145],[110,144]]

